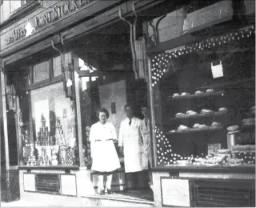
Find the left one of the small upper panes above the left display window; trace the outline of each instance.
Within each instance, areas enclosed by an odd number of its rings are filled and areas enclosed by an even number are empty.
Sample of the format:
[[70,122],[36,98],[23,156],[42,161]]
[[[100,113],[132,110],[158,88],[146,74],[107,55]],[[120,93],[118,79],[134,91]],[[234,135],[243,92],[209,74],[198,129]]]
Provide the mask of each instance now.
[[42,62],[33,67],[34,83],[46,80],[49,78],[49,62]]

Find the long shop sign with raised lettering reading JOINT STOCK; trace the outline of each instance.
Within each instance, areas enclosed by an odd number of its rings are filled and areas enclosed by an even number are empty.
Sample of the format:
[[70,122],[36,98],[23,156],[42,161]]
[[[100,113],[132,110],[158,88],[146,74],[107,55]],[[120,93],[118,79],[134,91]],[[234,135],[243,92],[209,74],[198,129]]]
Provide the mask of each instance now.
[[22,22],[20,25],[2,34],[5,40],[2,46],[2,50],[14,42],[18,42],[23,38],[29,37],[30,35],[37,33],[44,29],[46,26],[58,20],[73,14],[75,11],[80,10],[86,6],[90,6],[98,0],[68,0],[59,1],[54,5],[46,8],[40,14]]

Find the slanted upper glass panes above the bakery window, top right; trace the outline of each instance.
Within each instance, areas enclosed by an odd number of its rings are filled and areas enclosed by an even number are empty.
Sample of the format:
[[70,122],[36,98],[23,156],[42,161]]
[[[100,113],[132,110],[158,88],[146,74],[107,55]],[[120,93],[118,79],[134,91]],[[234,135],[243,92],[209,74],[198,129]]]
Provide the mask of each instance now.
[[231,19],[232,14],[231,1],[191,2],[148,22],[149,38],[151,42],[166,42],[190,30],[224,22]]

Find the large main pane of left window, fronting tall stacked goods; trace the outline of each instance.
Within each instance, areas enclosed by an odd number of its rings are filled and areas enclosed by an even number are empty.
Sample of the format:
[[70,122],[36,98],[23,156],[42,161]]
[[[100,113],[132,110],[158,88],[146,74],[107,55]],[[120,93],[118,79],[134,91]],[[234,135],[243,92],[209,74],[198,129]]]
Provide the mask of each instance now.
[[[63,83],[31,91],[32,138],[24,163],[32,166],[78,164],[74,102],[66,98]],[[28,135],[30,136],[30,135]],[[25,141],[25,140],[24,140]],[[34,144],[34,152],[31,147]]]

